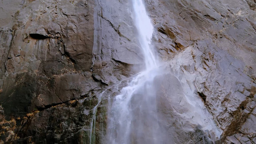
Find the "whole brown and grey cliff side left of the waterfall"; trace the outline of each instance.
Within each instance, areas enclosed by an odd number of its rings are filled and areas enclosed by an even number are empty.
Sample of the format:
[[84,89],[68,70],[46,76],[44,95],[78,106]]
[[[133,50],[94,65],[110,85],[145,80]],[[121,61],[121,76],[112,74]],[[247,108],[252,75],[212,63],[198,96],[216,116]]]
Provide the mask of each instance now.
[[[96,96],[142,60],[128,7],[127,1],[1,1],[1,142],[89,141]],[[114,14],[127,16],[116,21]]]

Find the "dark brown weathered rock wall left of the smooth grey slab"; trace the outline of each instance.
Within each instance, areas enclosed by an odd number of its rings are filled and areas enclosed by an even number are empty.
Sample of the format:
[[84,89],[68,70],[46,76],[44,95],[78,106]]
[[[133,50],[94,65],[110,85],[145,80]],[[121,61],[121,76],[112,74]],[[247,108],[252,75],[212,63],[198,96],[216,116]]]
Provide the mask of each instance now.
[[[50,142],[55,136],[44,132],[58,129],[63,134],[63,131],[47,117],[57,121],[77,119],[75,112],[84,109],[73,104],[74,108],[70,109],[69,103],[91,99],[94,91],[101,89],[102,84],[95,82],[90,72],[94,1],[2,0],[0,10],[3,12],[0,16],[0,125],[4,130],[1,143]],[[55,114],[48,111],[61,104],[67,109],[65,115],[61,116],[61,110]],[[94,105],[87,103],[86,107]],[[49,123],[54,125],[51,130],[47,129]],[[76,127],[75,132],[82,129],[72,125]],[[66,127],[73,129],[70,123]],[[32,135],[40,134],[43,134],[41,138],[31,139]],[[77,136],[57,136],[56,143],[72,141]]]

